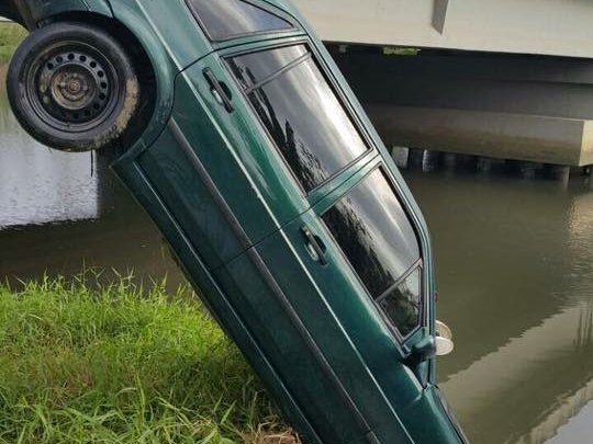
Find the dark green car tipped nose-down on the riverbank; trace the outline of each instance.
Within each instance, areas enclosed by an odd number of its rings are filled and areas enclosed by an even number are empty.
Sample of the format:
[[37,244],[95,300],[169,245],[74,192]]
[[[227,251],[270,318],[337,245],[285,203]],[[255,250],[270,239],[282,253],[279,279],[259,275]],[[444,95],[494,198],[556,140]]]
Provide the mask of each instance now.
[[284,0],[3,0],[8,90],[61,150],[109,150],[305,443],[465,443],[435,385],[426,225]]

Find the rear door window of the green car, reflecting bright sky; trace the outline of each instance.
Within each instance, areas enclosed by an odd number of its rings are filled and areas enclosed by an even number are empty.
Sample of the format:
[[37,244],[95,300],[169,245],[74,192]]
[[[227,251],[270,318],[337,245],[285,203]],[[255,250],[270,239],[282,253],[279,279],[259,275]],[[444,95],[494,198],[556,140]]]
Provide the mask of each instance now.
[[369,149],[306,46],[227,62],[305,192]]

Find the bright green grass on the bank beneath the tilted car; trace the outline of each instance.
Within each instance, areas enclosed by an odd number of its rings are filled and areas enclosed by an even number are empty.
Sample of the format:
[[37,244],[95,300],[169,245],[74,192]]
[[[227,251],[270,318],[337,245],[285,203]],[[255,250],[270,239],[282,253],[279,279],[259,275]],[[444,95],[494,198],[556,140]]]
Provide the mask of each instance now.
[[163,288],[0,286],[0,443],[296,443],[200,304]]

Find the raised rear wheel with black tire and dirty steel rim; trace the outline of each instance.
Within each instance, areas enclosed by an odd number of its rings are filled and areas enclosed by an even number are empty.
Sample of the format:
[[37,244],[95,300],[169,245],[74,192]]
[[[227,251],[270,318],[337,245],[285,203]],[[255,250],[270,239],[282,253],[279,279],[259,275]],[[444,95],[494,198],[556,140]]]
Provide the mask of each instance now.
[[48,147],[115,145],[136,114],[132,59],[99,27],[59,22],[33,32],[14,54],[7,89],[23,128]]

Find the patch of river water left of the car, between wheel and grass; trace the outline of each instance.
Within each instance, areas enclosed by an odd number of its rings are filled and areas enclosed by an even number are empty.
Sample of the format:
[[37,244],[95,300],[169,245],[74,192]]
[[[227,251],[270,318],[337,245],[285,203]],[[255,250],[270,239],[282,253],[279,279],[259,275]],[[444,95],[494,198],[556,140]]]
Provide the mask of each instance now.
[[[4,72],[0,67],[2,87]],[[182,282],[157,230],[107,163],[40,146],[19,127],[0,89],[1,281],[97,267]]]

